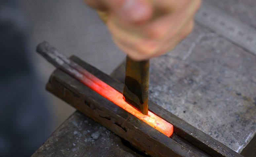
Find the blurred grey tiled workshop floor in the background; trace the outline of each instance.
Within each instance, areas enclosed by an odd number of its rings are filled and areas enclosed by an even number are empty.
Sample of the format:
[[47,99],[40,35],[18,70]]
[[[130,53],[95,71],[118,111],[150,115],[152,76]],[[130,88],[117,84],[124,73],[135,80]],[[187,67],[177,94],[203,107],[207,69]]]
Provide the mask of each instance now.
[[[31,24],[32,50],[47,40],[67,56],[76,55],[103,72],[110,74],[125,58],[112,42],[105,25],[97,13],[82,0],[21,0],[28,22]],[[105,52],[105,49],[111,50]],[[32,51],[45,86],[54,67]],[[54,131],[75,109],[45,91],[52,111]]]

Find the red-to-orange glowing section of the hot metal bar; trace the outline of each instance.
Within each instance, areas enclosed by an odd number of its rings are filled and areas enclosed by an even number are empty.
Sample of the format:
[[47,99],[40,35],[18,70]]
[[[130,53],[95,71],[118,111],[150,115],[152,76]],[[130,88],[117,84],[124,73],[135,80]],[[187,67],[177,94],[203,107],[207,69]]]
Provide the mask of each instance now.
[[172,135],[172,124],[166,122],[164,119],[158,117],[150,111],[148,111],[148,115],[143,115],[141,112],[139,112],[126,101],[124,101],[122,93],[118,92],[117,90],[115,90],[105,82],[101,81],[100,79],[98,79],[86,70],[83,70],[83,74],[84,75],[80,77],[80,81],[88,87],[90,87],[91,89],[93,89],[95,92],[102,95],[109,101],[112,101],[119,107],[125,109],[130,114],[134,115],[135,117],[154,127],[155,129],[162,132],[166,136],[170,137]]

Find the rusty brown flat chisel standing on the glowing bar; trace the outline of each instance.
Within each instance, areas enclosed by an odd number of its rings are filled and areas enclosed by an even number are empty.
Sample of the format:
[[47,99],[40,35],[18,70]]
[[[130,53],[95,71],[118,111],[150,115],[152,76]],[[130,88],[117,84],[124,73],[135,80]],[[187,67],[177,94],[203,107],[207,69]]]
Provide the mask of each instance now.
[[135,61],[126,57],[124,99],[142,114],[148,114],[149,60]]

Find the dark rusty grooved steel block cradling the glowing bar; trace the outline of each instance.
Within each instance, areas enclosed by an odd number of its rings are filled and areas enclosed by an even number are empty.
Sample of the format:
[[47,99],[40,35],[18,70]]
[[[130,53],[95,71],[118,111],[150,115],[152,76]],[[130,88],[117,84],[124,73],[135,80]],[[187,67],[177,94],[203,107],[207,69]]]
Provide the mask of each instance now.
[[[55,51],[49,52],[51,55],[57,54],[55,49],[48,49],[48,51]],[[71,59],[117,91],[122,92],[122,83],[77,57]],[[60,66],[61,69],[67,68],[65,64]],[[69,70],[74,69],[71,66]],[[241,156],[159,105],[149,101],[151,111],[173,124],[174,133],[168,138],[159,131],[152,130],[152,127],[146,123],[85,86],[74,76],[72,77],[61,70],[56,70],[53,73],[47,84],[47,90],[151,156]]]

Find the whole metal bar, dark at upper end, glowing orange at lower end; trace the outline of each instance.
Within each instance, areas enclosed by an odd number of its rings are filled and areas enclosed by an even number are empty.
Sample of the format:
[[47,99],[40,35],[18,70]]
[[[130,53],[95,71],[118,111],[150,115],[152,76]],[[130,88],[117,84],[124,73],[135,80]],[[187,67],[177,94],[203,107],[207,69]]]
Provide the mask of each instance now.
[[60,68],[72,75],[76,79],[80,80],[83,84],[90,87],[92,90],[105,97],[109,101],[115,103],[119,107],[123,108],[130,114],[139,118],[143,122],[154,127],[158,131],[162,132],[166,136],[170,137],[173,133],[173,125],[166,122],[164,119],[160,118],[156,114],[148,111],[148,115],[143,115],[141,112],[136,110],[130,104],[123,100],[122,93],[115,90],[113,87],[109,86],[105,82],[101,81],[90,72],[76,64],[75,62],[69,60],[63,54],[60,54],[50,46],[47,42],[41,43],[37,47],[37,51],[44,56],[49,62],[54,64],[57,68]]

